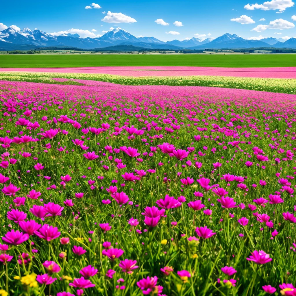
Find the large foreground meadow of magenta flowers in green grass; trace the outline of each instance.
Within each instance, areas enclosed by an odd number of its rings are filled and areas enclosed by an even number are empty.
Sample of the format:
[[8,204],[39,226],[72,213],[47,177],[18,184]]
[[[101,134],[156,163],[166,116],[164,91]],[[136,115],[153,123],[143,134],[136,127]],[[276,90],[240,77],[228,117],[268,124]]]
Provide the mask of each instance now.
[[295,296],[295,101],[0,81],[0,295]]

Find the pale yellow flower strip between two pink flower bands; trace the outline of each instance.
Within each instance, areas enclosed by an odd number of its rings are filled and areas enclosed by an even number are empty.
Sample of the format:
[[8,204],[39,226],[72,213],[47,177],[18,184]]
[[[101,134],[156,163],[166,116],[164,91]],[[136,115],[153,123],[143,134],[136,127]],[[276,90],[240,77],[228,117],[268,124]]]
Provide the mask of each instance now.
[[[54,70],[54,69],[53,69]],[[70,71],[63,69],[65,72]],[[207,86],[231,89],[248,89],[274,93],[296,94],[296,79],[286,78],[254,78],[228,76],[121,76],[111,74],[90,73],[51,73],[51,72],[6,72],[0,71],[0,80],[26,81],[39,83],[75,84],[73,79],[104,81],[121,85],[168,85],[168,86]],[[155,71],[150,71],[155,72]],[[141,73],[141,72],[140,72]],[[176,72],[178,73],[178,72]],[[293,75],[294,72],[292,72]],[[210,74],[210,72],[208,73]],[[294,75],[295,76],[295,75]],[[70,79],[55,81],[56,78]]]

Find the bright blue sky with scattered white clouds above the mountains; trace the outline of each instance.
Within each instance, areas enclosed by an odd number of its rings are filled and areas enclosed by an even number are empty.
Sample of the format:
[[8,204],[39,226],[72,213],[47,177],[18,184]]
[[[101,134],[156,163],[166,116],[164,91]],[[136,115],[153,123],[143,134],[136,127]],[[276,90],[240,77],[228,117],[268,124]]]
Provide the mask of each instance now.
[[51,0],[35,4],[16,1],[10,13],[11,2],[3,1],[1,11],[9,13],[0,15],[0,29],[15,25],[21,29],[38,28],[58,33],[73,28],[82,37],[94,37],[103,35],[103,31],[111,27],[120,27],[136,37],[154,36],[163,41],[193,36],[215,38],[224,33],[235,33],[243,38],[296,36],[296,6],[292,0],[257,0],[257,3],[252,0],[95,0],[92,3],[87,0]]

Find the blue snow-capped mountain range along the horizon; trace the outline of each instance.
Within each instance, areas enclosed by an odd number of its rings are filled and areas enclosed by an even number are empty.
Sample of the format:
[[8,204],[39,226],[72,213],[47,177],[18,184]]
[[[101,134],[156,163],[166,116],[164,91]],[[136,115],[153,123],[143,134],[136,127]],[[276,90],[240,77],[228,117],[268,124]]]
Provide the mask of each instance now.
[[138,49],[245,49],[255,47],[296,48],[296,39],[287,41],[279,38],[263,38],[260,40],[247,40],[236,34],[226,33],[218,38],[199,39],[192,37],[189,40],[161,41],[155,37],[135,37],[121,28],[115,28],[98,38],[82,38],[78,34],[63,33],[53,36],[38,29],[31,31],[29,28],[16,30],[9,27],[0,31],[0,50],[31,50],[50,47],[75,47],[81,49],[100,49],[121,46],[121,48]]

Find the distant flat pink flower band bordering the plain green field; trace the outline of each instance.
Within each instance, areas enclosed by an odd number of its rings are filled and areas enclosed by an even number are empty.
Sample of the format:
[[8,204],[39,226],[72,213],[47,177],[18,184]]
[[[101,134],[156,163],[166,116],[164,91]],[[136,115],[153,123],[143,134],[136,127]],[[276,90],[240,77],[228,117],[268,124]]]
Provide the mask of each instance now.
[[75,67],[75,68],[0,68],[3,71],[91,73],[122,76],[233,76],[255,78],[296,78],[296,67],[222,68],[222,67]]

